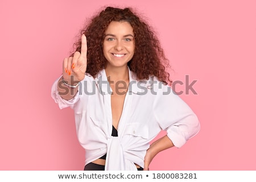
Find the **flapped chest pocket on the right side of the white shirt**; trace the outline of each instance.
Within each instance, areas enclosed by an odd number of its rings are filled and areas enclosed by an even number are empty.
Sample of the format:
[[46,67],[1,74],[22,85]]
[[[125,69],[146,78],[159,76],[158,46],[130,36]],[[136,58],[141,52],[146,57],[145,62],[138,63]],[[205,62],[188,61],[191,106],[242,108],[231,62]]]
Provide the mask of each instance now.
[[124,134],[148,139],[148,127],[141,123],[127,123]]

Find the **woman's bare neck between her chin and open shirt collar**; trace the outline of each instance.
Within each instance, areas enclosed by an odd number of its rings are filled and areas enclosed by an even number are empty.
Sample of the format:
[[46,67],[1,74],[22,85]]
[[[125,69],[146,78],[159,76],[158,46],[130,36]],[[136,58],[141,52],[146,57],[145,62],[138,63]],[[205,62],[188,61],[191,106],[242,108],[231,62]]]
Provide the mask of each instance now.
[[105,68],[106,76],[108,80],[111,81],[119,81],[119,80],[128,80],[129,81],[129,70],[127,65],[125,67],[118,67],[118,68],[110,68],[107,66]]

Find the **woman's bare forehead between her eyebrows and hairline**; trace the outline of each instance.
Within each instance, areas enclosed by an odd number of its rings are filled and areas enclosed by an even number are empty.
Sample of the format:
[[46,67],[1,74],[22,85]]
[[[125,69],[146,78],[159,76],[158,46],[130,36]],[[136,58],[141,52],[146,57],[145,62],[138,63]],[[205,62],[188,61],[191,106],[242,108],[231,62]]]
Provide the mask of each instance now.
[[106,28],[105,34],[113,34],[113,35],[127,35],[133,33],[133,27],[129,22],[110,22],[108,28]]

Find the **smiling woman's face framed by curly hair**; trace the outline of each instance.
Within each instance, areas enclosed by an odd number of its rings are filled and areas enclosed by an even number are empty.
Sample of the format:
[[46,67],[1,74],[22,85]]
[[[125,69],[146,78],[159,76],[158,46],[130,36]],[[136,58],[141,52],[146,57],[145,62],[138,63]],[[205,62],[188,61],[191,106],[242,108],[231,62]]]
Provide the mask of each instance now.
[[103,53],[108,60],[108,67],[127,67],[134,50],[135,39],[130,23],[110,22],[103,42]]

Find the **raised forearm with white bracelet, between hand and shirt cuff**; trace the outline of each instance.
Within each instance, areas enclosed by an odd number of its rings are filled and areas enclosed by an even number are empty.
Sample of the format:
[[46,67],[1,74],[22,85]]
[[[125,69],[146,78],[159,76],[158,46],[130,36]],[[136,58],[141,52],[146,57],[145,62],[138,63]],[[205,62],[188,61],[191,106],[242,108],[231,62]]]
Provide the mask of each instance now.
[[[65,81],[68,85],[77,85],[78,83],[71,83],[71,81]],[[72,88],[70,86],[67,86],[63,82],[63,77],[60,77],[58,83],[57,83],[57,90],[59,92],[60,97],[62,97],[64,100],[71,100],[73,97],[76,96],[76,93],[79,89],[79,86],[76,88]]]

